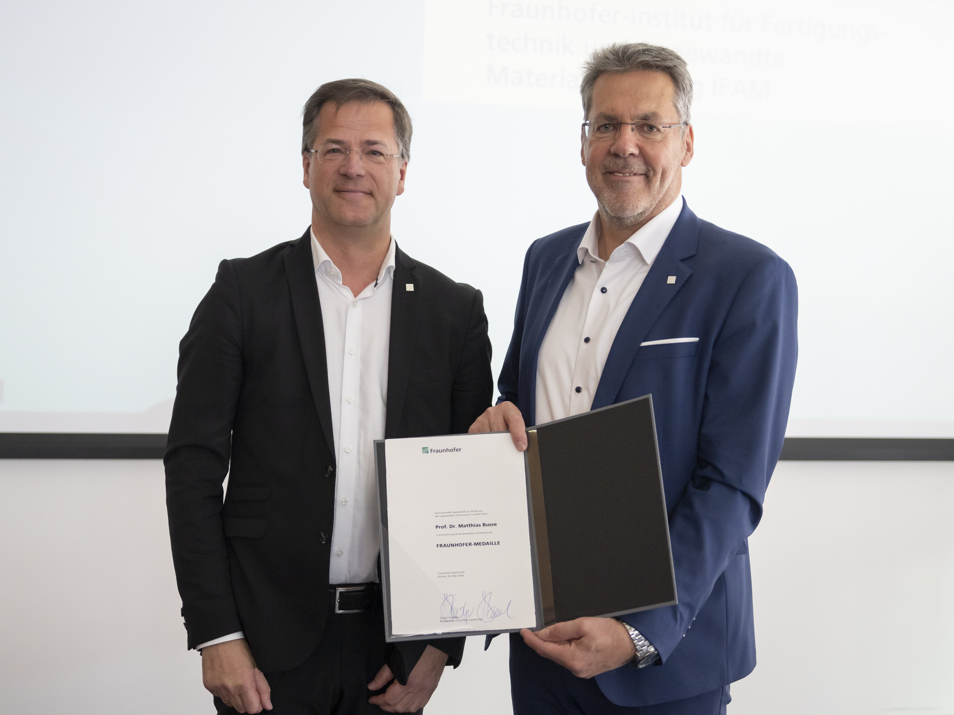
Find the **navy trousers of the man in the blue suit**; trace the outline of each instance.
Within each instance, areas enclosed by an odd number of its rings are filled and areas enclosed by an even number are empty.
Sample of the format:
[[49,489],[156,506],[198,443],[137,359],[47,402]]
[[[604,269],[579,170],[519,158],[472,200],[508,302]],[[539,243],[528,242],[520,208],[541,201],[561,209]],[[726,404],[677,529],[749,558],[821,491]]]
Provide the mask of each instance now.
[[672,703],[614,705],[595,678],[577,678],[538,656],[519,633],[510,634],[510,697],[513,715],[726,715],[732,700],[726,685]]

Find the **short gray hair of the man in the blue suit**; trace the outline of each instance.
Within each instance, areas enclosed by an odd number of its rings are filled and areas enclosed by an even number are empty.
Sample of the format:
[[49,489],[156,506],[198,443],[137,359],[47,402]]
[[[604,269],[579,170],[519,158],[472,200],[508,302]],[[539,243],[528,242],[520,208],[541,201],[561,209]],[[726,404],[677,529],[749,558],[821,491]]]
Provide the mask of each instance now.
[[583,97],[584,119],[590,118],[593,103],[593,85],[602,74],[621,74],[636,70],[666,72],[673,80],[675,93],[673,103],[679,121],[691,121],[693,106],[693,78],[686,69],[686,61],[669,48],[649,45],[645,42],[617,42],[594,51],[583,64],[583,81],[580,95]]

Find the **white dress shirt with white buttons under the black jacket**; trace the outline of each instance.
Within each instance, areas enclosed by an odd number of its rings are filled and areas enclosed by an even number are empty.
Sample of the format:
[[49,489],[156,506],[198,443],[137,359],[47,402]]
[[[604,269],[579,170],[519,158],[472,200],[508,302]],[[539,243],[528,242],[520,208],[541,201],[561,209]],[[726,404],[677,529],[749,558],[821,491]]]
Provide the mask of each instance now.
[[[358,296],[324,253],[314,232],[311,255],[321,301],[328,397],[335,444],[335,526],[329,583],[378,581],[381,527],[374,477],[374,440],[384,439],[387,356],[391,336],[394,237],[378,279]],[[241,631],[197,645],[244,638]]]

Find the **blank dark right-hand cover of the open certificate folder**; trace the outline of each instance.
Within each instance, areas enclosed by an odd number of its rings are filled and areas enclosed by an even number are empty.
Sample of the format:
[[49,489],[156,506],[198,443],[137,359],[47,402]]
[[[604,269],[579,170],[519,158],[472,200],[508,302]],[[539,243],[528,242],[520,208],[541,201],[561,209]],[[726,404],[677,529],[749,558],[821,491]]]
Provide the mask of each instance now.
[[652,396],[528,436],[544,625],[677,603]]

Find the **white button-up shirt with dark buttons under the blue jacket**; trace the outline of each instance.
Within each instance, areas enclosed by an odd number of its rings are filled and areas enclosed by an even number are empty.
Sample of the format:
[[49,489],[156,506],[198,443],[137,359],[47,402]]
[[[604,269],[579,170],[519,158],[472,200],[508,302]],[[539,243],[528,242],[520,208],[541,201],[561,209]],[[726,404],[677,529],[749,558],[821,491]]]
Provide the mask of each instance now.
[[599,212],[576,249],[573,273],[540,346],[536,423],[588,412],[623,318],[682,211],[679,196],[617,246],[599,257]]

